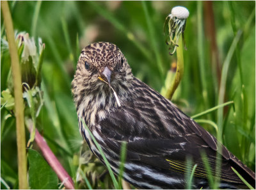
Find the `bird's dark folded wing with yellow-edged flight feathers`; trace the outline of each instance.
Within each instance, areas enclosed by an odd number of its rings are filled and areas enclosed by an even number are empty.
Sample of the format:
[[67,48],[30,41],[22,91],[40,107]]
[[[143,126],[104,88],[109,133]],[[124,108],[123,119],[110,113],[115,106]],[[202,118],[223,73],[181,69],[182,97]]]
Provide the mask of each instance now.
[[[163,135],[168,131],[164,132],[164,129],[159,129],[161,132],[151,131],[148,125],[152,124],[145,124],[136,111],[129,109],[131,107],[122,107],[99,123],[99,135],[106,139],[105,147],[107,145],[113,152],[120,153],[121,142],[125,141],[127,142],[127,162],[138,161],[159,170],[172,170],[179,173],[186,173],[186,158],[190,156],[194,164],[197,164],[195,176],[207,178],[208,174],[200,155],[201,152],[205,152],[211,168],[215,168],[216,151],[202,138],[204,131],[200,132],[200,136],[196,132],[178,136]],[[223,161],[221,179],[226,182],[240,183],[241,180],[234,175],[227,160]]]

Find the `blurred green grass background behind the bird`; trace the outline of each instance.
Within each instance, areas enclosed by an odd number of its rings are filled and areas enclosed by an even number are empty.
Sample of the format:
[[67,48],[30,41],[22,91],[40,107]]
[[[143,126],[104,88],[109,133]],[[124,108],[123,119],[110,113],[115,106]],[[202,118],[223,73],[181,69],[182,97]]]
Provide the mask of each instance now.
[[[81,150],[83,139],[78,131],[70,91],[81,49],[92,42],[116,44],[126,56],[133,74],[161,91],[166,74],[176,61],[175,55],[168,54],[163,24],[173,6],[178,5],[188,8],[189,17],[184,33],[187,49],[184,51],[184,78],[173,102],[189,116],[218,105],[222,65],[237,31],[243,32],[232,59],[228,61],[225,102],[234,100],[234,104],[225,107],[221,125],[224,145],[255,171],[255,1],[8,3],[14,29],[40,37],[45,43],[41,85],[44,107],[36,127],[73,179],[76,179],[79,167],[77,157],[86,150],[86,145]],[[2,40],[4,36],[1,17],[1,91],[8,88],[6,80],[10,70],[10,58]],[[163,65],[163,72],[157,61]],[[200,119],[218,124],[217,111]],[[216,136],[212,125],[200,124]],[[29,133],[26,132],[28,141]],[[17,187],[15,138],[15,118],[6,109],[1,109],[1,178],[11,188]],[[86,167],[93,171],[97,170],[96,166],[102,167],[97,161],[93,167],[92,161],[84,162],[83,170],[86,171]],[[112,187],[99,175],[95,174],[95,188]],[[94,180],[92,175],[88,176]],[[84,187],[83,180],[77,180],[77,188]],[[1,188],[6,187],[1,183]]]

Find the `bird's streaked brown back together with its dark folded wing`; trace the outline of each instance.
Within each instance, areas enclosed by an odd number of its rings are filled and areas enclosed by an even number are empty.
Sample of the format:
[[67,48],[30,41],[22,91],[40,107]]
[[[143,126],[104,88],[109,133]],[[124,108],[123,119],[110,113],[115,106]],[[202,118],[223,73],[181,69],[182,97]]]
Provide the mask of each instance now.
[[[201,152],[204,151],[211,168],[215,168],[216,152],[220,152],[220,148],[214,136],[147,84],[138,81],[134,89],[138,95],[136,102],[122,102],[121,107],[99,122],[100,132],[108,139],[112,150],[120,152],[120,142],[126,141],[128,160],[140,160],[158,167],[161,163],[163,168],[175,167],[175,163],[185,168],[186,156],[190,155],[198,164],[196,173],[207,175],[202,169]],[[234,159],[234,155],[223,145],[221,155],[221,178],[241,182],[230,168],[230,159]],[[157,161],[159,159],[163,161]],[[241,171],[246,169],[241,162],[232,166]],[[253,175],[250,170],[245,171]]]

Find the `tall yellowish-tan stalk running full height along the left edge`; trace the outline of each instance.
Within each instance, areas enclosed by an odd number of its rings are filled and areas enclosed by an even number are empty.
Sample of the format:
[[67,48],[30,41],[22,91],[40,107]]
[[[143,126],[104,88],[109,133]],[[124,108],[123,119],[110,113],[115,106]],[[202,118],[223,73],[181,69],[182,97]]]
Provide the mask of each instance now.
[[28,188],[27,180],[27,159],[26,159],[26,135],[24,126],[24,103],[22,98],[22,83],[17,46],[14,39],[13,23],[8,6],[8,1],[1,2],[1,9],[4,17],[4,26],[9,42],[10,57],[12,60],[12,77],[14,84],[15,117],[18,151],[19,189]]

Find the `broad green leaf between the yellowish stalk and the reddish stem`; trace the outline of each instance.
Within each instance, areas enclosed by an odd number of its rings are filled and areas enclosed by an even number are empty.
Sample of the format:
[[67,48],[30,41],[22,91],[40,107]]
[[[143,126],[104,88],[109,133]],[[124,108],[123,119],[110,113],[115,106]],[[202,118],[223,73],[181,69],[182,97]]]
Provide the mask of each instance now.
[[58,189],[58,177],[45,159],[35,150],[28,149],[30,189]]

